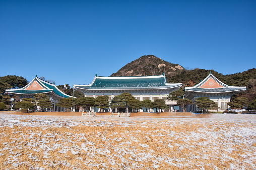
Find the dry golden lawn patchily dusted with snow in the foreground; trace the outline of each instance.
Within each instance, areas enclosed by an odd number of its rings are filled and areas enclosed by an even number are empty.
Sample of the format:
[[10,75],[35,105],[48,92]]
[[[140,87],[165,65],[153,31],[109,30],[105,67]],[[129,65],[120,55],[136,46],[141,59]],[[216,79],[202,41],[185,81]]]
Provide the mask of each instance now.
[[256,119],[0,114],[0,161],[0,169],[256,169]]

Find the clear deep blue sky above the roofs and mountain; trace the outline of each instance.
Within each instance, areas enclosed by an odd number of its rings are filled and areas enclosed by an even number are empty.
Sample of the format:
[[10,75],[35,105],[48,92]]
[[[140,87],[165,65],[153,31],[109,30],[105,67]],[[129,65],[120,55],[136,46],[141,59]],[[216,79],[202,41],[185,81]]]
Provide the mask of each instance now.
[[89,84],[143,55],[256,67],[256,1],[0,1],[0,76]]

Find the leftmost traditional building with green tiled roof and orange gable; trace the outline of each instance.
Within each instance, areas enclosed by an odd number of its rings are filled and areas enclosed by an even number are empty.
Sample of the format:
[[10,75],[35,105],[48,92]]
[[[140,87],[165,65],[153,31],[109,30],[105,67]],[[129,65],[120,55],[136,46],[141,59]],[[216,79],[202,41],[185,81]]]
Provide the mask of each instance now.
[[34,96],[37,93],[46,94],[51,99],[54,111],[62,110],[62,108],[59,108],[58,106],[56,106],[56,103],[59,102],[59,99],[72,97],[72,96],[69,96],[69,95],[63,93],[62,91],[60,91],[55,86],[54,83],[52,84],[47,81],[44,81],[44,80],[38,78],[37,75],[25,87],[20,88],[20,89],[9,89],[9,90],[6,90],[6,93],[19,96],[20,99],[34,98]]

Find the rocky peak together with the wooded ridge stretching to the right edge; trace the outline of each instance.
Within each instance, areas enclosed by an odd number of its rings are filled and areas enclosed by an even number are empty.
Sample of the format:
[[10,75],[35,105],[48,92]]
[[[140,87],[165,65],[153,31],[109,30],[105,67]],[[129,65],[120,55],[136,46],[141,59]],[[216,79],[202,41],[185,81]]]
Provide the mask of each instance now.
[[182,83],[186,87],[191,87],[204,80],[210,71],[217,79],[230,86],[246,86],[249,79],[256,79],[255,68],[242,73],[223,75],[214,70],[199,68],[186,70],[178,64],[164,61],[154,55],[142,56],[126,64],[110,77],[154,76],[165,73],[167,83]]

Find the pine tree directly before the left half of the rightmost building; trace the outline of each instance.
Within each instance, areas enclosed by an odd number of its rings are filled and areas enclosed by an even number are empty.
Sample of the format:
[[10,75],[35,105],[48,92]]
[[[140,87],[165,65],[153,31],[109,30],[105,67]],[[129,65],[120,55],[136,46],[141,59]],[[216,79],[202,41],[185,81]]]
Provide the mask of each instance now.
[[214,101],[210,100],[209,97],[198,97],[196,98],[196,103],[198,108],[203,109],[203,113],[208,109],[213,109],[218,106]]

